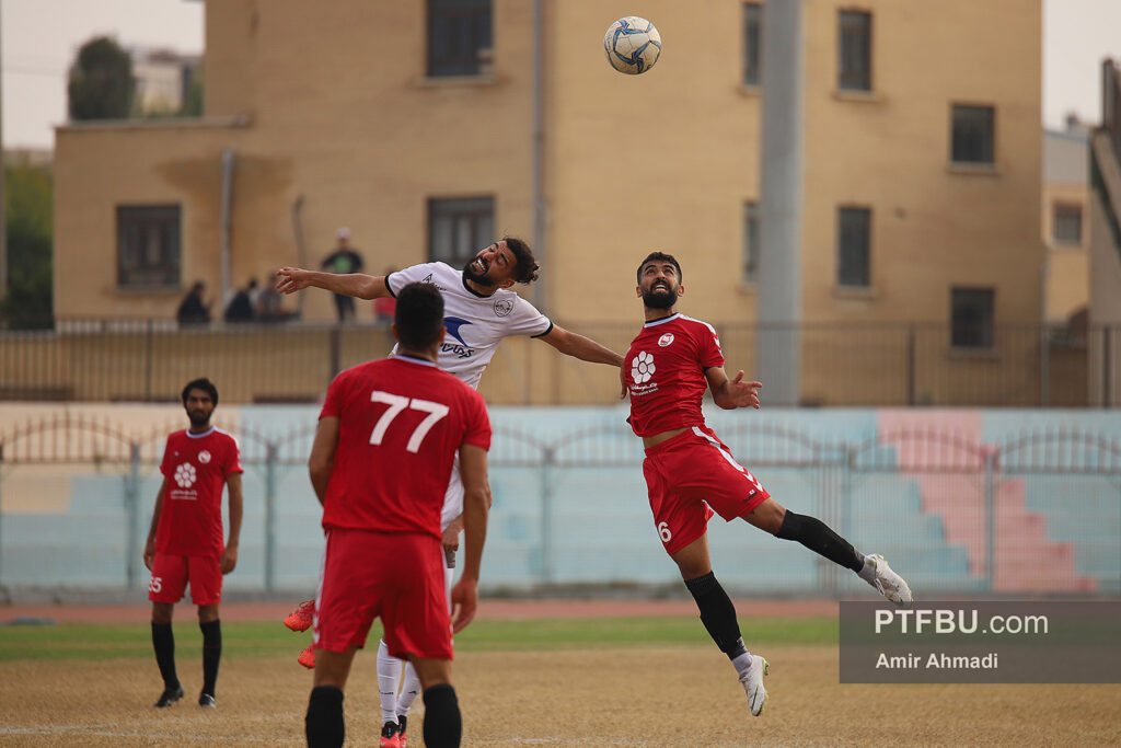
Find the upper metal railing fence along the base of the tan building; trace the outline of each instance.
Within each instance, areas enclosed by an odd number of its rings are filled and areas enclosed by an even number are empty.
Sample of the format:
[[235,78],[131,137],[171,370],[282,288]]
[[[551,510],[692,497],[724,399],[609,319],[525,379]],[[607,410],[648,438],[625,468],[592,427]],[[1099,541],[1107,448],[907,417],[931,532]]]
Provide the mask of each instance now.
[[[760,329],[715,325],[730,368],[757,369]],[[634,324],[571,325],[624,351]],[[953,344],[941,324],[805,324],[799,404],[823,406],[1121,405],[1121,326],[1006,325],[988,348]],[[0,399],[174,401],[205,373],[226,403],[314,401],[341,369],[385,355],[372,325],[214,325],[156,320],[56,321],[53,330],[0,331]],[[765,382],[766,385],[766,382]],[[526,338],[499,349],[480,391],[494,405],[606,405],[617,372],[558,355]]]

